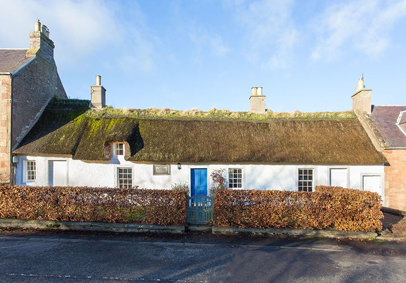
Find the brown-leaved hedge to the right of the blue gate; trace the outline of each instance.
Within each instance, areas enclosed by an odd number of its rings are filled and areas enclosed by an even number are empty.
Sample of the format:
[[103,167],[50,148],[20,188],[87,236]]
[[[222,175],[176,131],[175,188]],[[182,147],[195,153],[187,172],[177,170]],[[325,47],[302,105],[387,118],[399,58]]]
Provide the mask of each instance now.
[[239,228],[381,229],[381,198],[377,193],[317,187],[315,192],[219,190],[214,225]]

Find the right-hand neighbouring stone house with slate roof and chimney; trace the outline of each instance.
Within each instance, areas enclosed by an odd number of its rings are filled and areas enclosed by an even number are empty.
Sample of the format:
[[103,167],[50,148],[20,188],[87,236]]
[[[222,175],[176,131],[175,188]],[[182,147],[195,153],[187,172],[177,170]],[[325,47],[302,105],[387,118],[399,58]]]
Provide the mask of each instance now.
[[388,160],[384,206],[406,211],[406,105],[372,105],[371,91],[361,78],[352,95],[353,110],[375,148]]

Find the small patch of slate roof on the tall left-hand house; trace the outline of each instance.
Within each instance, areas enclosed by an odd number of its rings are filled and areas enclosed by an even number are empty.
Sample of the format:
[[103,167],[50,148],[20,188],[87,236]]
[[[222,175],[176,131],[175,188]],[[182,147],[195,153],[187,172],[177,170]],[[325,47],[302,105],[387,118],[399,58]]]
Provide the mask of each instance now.
[[13,73],[33,57],[26,57],[28,49],[0,49],[0,73]]

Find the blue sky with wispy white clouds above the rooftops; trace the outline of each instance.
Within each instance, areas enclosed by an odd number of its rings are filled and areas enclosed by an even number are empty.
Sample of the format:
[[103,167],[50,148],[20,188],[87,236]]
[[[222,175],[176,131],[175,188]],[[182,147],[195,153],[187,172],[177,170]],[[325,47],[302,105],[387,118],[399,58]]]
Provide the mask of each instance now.
[[40,19],[70,98],[101,75],[116,108],[351,110],[406,105],[406,0],[0,0],[0,48],[28,48]]

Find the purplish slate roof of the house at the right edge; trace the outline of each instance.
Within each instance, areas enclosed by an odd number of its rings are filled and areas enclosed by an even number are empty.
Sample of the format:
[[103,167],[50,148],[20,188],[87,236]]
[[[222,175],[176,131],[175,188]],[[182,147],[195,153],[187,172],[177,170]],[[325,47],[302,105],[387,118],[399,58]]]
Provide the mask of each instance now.
[[[406,147],[406,135],[396,125],[403,106],[374,106],[371,120],[389,147]],[[406,132],[406,124],[400,125]]]

